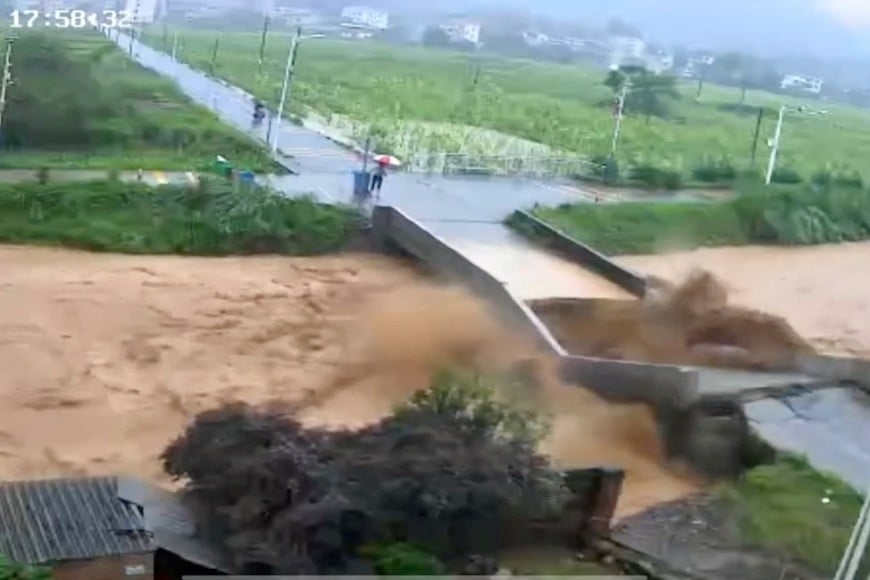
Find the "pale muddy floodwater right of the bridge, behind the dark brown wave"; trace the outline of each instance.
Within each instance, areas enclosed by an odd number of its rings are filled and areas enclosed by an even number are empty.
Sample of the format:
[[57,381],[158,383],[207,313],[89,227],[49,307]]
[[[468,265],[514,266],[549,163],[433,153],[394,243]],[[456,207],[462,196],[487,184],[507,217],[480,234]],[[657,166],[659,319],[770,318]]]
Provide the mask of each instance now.
[[731,303],[785,318],[816,350],[870,357],[870,242],[702,248],[617,261],[669,280],[703,268],[725,281]]

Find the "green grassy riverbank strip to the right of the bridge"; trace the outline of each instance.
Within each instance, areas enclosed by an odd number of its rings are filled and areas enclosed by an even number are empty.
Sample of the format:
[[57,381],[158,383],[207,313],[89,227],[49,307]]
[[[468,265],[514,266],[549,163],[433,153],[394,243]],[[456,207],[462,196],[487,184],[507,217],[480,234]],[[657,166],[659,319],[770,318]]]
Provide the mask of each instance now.
[[[578,203],[531,213],[605,254],[666,248],[809,245],[870,238],[870,190],[840,185],[740,186],[722,202]],[[508,223],[531,237],[532,231]]]

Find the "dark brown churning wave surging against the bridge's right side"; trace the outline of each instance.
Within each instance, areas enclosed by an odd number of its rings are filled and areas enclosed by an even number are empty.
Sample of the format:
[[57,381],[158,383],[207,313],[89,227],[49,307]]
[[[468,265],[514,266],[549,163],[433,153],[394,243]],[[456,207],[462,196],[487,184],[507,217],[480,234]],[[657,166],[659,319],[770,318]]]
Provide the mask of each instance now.
[[772,370],[813,352],[784,318],[731,305],[709,272],[655,282],[644,300],[544,300],[533,309],[566,349],[595,357]]

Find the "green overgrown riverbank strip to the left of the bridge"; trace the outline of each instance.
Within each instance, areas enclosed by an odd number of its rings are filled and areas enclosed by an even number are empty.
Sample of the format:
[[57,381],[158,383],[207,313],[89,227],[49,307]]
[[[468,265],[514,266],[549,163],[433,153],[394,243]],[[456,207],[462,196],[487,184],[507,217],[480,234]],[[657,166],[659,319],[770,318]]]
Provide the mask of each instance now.
[[356,213],[218,181],[0,185],[0,242],[127,254],[310,255],[340,249]]

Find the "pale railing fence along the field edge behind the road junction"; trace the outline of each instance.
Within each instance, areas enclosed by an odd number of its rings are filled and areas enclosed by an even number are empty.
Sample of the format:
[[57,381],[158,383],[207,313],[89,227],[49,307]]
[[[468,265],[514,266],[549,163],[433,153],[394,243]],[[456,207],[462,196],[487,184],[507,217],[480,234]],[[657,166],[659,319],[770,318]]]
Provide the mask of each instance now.
[[402,160],[405,171],[444,175],[507,175],[537,179],[600,177],[603,166],[585,157],[416,153]]

